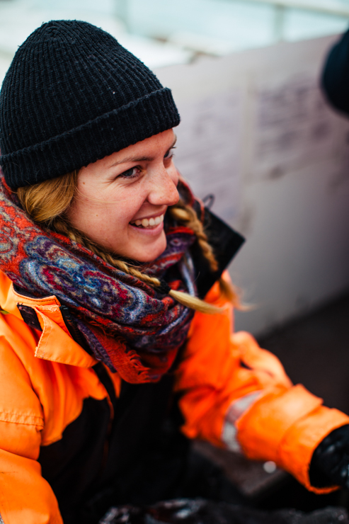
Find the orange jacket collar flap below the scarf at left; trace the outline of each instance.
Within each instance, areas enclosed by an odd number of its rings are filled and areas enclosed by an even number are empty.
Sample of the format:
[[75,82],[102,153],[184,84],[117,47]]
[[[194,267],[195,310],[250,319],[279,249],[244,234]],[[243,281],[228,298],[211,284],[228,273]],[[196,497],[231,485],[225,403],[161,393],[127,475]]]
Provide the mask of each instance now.
[[81,368],[91,368],[97,363],[71,337],[59,309],[61,304],[54,295],[44,298],[21,295],[13,288],[13,283],[5,273],[0,271],[0,306],[21,321],[25,318],[26,323],[32,327],[35,324],[28,319],[37,319],[42,331],[36,330],[40,338],[35,348],[35,357]]

